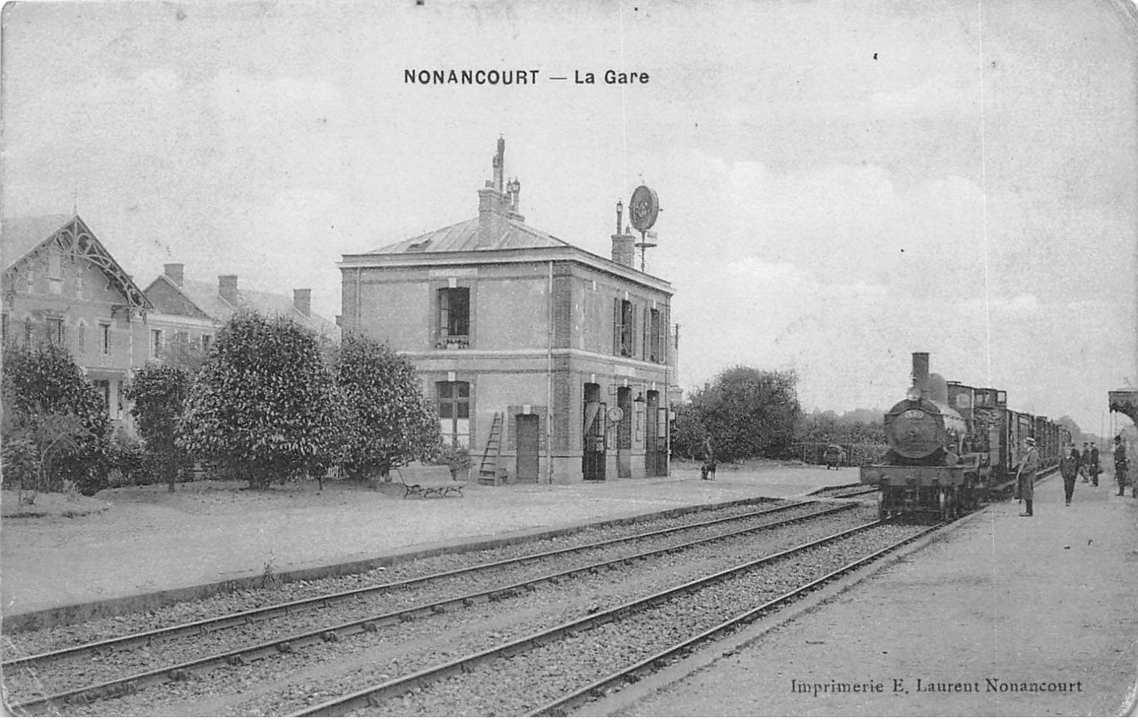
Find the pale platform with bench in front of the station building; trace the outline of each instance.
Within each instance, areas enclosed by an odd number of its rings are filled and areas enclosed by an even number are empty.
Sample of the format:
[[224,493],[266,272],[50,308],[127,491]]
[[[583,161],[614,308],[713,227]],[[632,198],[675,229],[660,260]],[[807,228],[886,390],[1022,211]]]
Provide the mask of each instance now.
[[[277,579],[358,572],[444,548],[489,547],[519,537],[621,518],[793,497],[856,483],[858,470],[810,465],[720,465],[715,481],[694,464],[665,478],[578,485],[468,485],[464,497],[404,499],[387,491],[315,482],[264,493],[238,483],[104,490],[84,512],[50,511],[41,497],[16,516],[5,491],[0,520],[3,629],[147,610]],[[69,515],[69,516],[68,516]]]

